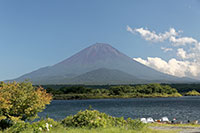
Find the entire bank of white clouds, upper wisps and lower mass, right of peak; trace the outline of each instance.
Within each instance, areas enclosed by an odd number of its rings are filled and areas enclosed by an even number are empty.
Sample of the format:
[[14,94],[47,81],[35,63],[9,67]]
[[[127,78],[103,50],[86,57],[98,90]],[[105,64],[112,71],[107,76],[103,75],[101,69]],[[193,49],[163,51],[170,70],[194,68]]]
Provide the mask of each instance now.
[[175,57],[168,62],[159,57],[148,57],[147,60],[134,58],[134,60],[174,76],[200,78],[200,42],[198,40],[192,37],[181,37],[181,31],[176,31],[174,28],[157,34],[155,31],[148,29],[132,29],[127,26],[127,31],[139,33],[146,41],[167,42],[170,48],[161,46],[161,50],[164,52],[176,51]]

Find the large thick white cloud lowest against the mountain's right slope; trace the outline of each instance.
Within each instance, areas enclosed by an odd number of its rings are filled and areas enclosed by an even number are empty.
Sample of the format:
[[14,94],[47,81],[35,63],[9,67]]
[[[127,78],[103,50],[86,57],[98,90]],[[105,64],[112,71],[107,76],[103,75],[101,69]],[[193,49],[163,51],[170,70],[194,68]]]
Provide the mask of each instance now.
[[177,77],[195,77],[200,74],[200,64],[194,62],[178,61],[175,58],[166,62],[159,57],[147,57],[147,60],[141,58],[133,59],[160,72]]

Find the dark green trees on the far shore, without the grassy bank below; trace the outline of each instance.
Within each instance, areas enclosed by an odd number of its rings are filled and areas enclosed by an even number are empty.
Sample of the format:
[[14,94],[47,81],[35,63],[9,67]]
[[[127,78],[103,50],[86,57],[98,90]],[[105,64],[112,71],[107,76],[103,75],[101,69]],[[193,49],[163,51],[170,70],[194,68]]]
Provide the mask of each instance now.
[[85,86],[65,86],[59,89],[53,89],[48,87],[47,92],[52,94],[107,94],[107,95],[123,95],[130,93],[140,94],[173,94],[178,93],[175,88],[169,85],[161,85],[157,83],[146,85],[119,85],[110,86],[108,89],[93,89]]

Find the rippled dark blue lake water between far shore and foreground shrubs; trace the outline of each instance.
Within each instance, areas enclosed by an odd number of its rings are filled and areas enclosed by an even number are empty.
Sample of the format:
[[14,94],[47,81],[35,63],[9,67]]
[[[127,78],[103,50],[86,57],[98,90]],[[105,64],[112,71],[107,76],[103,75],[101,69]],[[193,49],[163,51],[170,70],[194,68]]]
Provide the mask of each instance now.
[[87,109],[89,105],[115,117],[159,119],[167,116],[170,120],[176,118],[180,121],[200,121],[200,97],[54,100],[39,116],[48,115],[60,120]]

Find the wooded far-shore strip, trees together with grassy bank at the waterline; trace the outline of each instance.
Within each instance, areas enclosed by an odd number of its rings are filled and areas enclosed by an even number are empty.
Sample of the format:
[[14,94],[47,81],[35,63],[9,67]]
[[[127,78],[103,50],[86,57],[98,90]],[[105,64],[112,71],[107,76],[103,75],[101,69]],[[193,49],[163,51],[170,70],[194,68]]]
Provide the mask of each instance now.
[[108,89],[93,89],[84,86],[69,86],[59,89],[47,88],[55,100],[100,99],[100,98],[144,98],[144,97],[180,97],[175,88],[161,84],[136,86],[110,86]]

